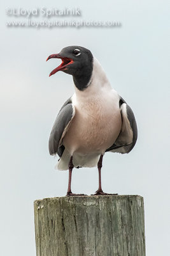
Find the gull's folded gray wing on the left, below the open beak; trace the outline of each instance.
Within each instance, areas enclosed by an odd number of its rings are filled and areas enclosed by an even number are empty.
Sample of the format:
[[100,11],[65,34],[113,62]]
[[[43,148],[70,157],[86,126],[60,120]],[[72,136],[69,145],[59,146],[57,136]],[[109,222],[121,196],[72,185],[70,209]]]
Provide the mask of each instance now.
[[64,145],[62,145],[62,139],[69,129],[69,125],[75,115],[75,109],[71,103],[71,98],[69,98],[64,103],[55,119],[48,143],[50,155],[58,154],[59,157],[61,157],[64,152],[65,148]]

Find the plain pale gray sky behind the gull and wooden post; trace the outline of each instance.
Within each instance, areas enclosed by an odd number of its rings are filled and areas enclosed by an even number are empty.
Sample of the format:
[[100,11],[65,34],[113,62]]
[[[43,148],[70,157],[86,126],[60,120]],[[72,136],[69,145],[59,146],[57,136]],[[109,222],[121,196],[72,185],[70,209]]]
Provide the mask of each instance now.
[[[118,20],[121,28],[7,28],[5,9],[73,8],[81,17]],[[138,123],[130,154],[104,156],[103,190],[145,200],[147,256],[169,255],[169,42],[167,1],[5,1],[1,5],[1,255],[36,255],[33,202],[64,196],[67,172],[54,170],[48,136],[72,77],[48,77],[59,60],[48,55],[82,45],[101,62]],[[42,20],[42,17],[32,20]],[[53,19],[64,20],[64,17]],[[74,170],[73,191],[94,193],[97,168]]]

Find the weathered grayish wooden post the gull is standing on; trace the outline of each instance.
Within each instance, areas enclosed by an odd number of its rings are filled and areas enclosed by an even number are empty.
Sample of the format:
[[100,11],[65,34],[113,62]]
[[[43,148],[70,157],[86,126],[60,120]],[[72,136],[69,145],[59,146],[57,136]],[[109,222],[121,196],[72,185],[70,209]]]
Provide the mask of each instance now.
[[34,213],[37,256],[145,256],[141,196],[46,198]]

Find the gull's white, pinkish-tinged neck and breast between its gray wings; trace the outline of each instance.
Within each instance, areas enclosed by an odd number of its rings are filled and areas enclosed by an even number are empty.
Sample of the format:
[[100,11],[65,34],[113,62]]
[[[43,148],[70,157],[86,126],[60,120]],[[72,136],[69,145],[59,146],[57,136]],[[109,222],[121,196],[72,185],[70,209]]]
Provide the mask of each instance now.
[[72,101],[76,113],[64,136],[64,146],[71,155],[104,153],[117,139],[122,119],[118,93],[111,89],[97,60],[90,86],[84,91],[75,88]]

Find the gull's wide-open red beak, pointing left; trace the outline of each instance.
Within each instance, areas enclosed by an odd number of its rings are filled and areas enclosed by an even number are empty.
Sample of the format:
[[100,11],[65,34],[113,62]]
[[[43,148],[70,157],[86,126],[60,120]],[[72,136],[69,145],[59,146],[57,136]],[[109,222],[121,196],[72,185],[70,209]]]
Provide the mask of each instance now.
[[71,58],[62,57],[62,56],[60,56],[60,54],[52,54],[52,55],[48,56],[46,61],[48,61],[52,58],[61,59],[62,63],[59,65],[59,67],[53,69],[49,76],[52,76],[53,74],[55,74],[56,72],[58,72],[60,70],[66,70],[67,69],[66,66],[70,65],[71,63],[74,62]]

